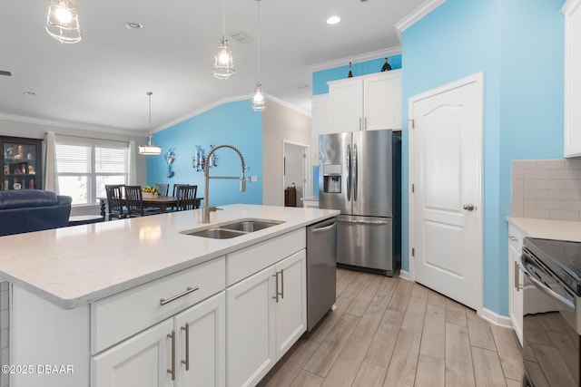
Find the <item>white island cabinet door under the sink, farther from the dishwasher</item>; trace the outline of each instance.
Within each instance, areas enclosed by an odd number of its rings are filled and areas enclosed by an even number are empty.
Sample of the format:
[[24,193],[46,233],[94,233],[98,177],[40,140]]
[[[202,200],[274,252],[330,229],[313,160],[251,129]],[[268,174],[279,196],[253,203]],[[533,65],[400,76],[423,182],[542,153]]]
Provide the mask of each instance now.
[[226,289],[229,386],[256,385],[276,363],[274,266]]

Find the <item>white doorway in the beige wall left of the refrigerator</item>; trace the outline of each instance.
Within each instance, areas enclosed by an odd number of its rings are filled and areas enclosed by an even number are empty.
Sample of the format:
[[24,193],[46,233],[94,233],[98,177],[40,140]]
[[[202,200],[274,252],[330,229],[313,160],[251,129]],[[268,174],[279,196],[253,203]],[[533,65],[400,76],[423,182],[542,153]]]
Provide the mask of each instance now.
[[[303,207],[302,198],[310,197],[310,146],[289,140],[282,141],[282,192],[296,188],[296,207]],[[284,198],[283,198],[284,199]]]

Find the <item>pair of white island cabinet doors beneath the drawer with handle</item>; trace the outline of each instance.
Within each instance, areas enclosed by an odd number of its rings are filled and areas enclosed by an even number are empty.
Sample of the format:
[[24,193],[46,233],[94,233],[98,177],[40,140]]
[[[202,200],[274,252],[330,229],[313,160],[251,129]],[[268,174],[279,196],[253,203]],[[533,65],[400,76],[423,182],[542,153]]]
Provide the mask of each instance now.
[[224,292],[93,357],[92,385],[224,386]]

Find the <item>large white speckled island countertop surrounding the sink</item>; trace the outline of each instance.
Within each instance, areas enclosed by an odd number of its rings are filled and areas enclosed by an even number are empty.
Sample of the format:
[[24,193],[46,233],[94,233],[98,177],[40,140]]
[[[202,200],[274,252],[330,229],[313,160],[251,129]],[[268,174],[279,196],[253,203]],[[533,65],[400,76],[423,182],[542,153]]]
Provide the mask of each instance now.
[[[0,237],[0,280],[71,309],[339,214],[241,204],[221,208],[212,213],[211,224],[202,224],[202,209],[195,209]],[[241,218],[284,223],[230,239],[181,233]]]

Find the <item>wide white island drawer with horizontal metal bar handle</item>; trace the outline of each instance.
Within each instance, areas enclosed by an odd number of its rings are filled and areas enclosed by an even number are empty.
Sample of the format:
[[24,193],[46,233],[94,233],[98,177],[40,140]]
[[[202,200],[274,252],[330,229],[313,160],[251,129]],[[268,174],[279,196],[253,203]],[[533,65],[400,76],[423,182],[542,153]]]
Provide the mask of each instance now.
[[222,291],[226,287],[225,271],[222,256],[93,303],[91,353],[100,353]]

